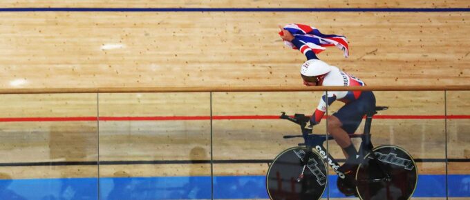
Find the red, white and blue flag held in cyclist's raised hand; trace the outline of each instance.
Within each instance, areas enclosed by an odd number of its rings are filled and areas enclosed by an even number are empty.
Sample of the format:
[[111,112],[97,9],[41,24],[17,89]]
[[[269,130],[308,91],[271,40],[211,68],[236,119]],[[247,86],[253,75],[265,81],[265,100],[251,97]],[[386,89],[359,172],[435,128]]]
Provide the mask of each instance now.
[[[349,57],[348,41],[344,36],[322,34],[317,28],[299,23],[290,23],[284,26],[284,29],[292,33],[295,38],[306,43],[315,54],[326,50],[325,47],[327,46],[336,46],[340,50],[343,50],[344,57]],[[282,35],[283,33],[279,32],[279,34]],[[290,41],[284,41],[284,44],[290,48],[297,49]]]

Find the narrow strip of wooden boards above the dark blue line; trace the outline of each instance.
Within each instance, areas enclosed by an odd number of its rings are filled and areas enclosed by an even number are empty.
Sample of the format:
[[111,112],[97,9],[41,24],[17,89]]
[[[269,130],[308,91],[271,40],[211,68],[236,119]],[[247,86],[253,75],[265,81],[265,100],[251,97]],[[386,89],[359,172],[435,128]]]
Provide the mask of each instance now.
[[0,3],[1,8],[469,8],[466,1],[294,1],[286,0],[272,2],[267,0],[164,0],[164,1],[145,1],[136,0],[100,0],[100,1],[50,1],[37,0],[14,1],[6,0]]

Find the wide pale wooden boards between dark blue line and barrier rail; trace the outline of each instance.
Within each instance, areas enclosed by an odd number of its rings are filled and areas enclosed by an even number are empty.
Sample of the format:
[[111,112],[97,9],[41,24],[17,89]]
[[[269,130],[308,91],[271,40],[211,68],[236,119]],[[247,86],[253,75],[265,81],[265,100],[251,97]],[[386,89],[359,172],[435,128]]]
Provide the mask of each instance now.
[[277,34],[278,24],[294,22],[346,35],[349,59],[336,48],[319,57],[369,86],[468,86],[469,39],[448,36],[467,34],[469,17],[467,12],[1,12],[0,88],[301,86],[305,57],[283,47]]

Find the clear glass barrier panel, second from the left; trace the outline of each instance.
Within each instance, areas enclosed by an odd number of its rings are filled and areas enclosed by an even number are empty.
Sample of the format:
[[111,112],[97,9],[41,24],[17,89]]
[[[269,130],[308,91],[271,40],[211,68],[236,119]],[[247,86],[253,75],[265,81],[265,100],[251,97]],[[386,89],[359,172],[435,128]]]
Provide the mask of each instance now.
[[211,199],[209,94],[100,94],[101,199]]

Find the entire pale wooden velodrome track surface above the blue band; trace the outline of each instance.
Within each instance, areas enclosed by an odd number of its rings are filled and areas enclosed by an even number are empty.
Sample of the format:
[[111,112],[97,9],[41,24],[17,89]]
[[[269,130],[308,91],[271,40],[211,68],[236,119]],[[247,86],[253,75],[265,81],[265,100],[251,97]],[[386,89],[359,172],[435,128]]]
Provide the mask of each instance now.
[[[0,8],[469,8],[466,1],[1,1]],[[469,12],[0,12],[1,88],[298,86],[302,54],[283,47],[278,24],[344,34],[350,58],[323,61],[370,86],[469,86]],[[390,106],[373,121],[376,145],[417,159],[470,159],[470,92],[376,92]],[[299,141],[270,119],[311,114],[321,92],[216,92],[213,158],[267,160]],[[1,163],[188,161],[211,158],[209,93],[3,94]],[[444,100],[447,107],[445,107]],[[334,112],[342,103],[334,103]],[[97,123],[96,117],[100,117]],[[230,119],[230,116],[232,119]],[[255,116],[255,119],[234,119]],[[256,117],[269,116],[269,117]],[[390,117],[392,116],[392,117]],[[395,116],[395,118],[393,118]],[[402,116],[402,117],[396,117]],[[412,116],[408,119],[406,116]],[[122,118],[127,117],[127,118]],[[138,118],[148,117],[148,118]],[[203,118],[198,118],[203,117]],[[393,119],[392,119],[393,118]],[[325,121],[318,127],[325,132]],[[361,129],[361,128],[360,128]],[[447,131],[447,134],[446,134]],[[360,132],[360,131],[359,131]],[[99,134],[98,134],[99,133]],[[98,141],[100,144],[98,146]],[[339,148],[329,143],[340,157]],[[99,154],[98,154],[99,153]],[[445,174],[445,163],[420,162]],[[216,175],[265,174],[266,163],[215,163]],[[4,166],[12,179],[97,177],[97,166]],[[449,174],[468,174],[449,163]],[[208,163],[106,164],[101,177],[210,175]]]

